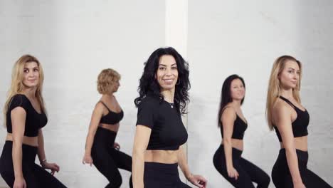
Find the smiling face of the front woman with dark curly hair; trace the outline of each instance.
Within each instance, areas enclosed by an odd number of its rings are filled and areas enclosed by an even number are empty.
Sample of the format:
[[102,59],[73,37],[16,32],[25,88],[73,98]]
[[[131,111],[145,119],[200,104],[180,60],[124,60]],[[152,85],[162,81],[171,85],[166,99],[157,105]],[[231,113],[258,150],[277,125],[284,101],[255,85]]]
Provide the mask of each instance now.
[[177,63],[174,56],[164,55],[159,58],[159,67],[155,75],[161,90],[171,90],[175,88],[178,80]]

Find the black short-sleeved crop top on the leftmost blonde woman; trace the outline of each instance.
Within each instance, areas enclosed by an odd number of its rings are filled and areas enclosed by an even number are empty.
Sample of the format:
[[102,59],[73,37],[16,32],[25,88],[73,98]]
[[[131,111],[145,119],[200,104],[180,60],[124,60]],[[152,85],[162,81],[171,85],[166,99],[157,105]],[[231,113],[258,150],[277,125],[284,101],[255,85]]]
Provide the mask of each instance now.
[[26,98],[26,95],[16,94],[11,98],[9,108],[6,114],[6,126],[7,132],[13,133],[11,125],[11,110],[16,107],[21,107],[26,110],[26,123],[24,129],[24,136],[26,137],[36,137],[38,136],[38,130],[46,125],[48,122],[48,117],[44,112],[37,113],[33,108],[30,100]]

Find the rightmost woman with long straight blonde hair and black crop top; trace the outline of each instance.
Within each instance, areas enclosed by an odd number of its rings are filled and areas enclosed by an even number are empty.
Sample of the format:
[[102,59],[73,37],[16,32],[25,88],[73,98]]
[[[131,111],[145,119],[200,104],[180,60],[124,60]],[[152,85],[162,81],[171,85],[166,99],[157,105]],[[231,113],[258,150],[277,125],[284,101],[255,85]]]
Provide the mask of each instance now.
[[307,126],[310,115],[300,103],[302,64],[292,56],[276,59],[270,73],[266,115],[280,141],[272,170],[277,188],[331,187],[307,169]]

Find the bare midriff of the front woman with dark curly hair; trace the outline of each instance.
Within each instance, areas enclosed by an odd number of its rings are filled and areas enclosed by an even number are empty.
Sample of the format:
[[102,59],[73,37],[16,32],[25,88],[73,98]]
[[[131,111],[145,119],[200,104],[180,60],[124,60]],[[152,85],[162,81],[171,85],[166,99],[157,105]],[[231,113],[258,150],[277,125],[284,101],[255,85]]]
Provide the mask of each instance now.
[[144,162],[174,164],[178,162],[178,151],[179,150],[146,150],[144,152]]

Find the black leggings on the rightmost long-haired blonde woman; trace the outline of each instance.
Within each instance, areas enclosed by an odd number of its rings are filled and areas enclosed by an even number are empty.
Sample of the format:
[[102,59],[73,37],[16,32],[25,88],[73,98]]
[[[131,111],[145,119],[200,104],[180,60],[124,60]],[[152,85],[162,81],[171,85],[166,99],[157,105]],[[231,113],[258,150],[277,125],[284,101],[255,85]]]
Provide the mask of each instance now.
[[[300,175],[302,182],[307,188],[329,188],[331,187],[322,178],[307,169],[307,160],[309,155],[307,152],[302,150],[296,150],[298,158],[298,168],[300,169]],[[280,188],[292,188],[292,177],[287,164],[287,157],[285,155],[285,149],[281,149],[279,156],[272,169],[272,179],[275,187]],[[332,188],[332,187],[331,187]]]

